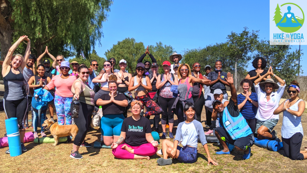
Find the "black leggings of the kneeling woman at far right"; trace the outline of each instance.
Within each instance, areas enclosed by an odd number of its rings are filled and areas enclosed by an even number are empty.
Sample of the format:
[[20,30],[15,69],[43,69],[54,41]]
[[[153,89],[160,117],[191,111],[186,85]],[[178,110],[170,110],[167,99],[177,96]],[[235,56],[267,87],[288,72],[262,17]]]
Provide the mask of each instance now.
[[303,135],[299,132],[289,139],[282,137],[282,145],[287,157],[292,160],[304,160],[304,155],[300,153],[302,140]]

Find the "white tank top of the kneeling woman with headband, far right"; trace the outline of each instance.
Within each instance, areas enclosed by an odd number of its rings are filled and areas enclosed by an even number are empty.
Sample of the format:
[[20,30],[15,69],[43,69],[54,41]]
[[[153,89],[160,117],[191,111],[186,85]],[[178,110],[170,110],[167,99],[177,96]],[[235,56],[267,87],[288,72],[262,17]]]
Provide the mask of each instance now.
[[[289,107],[292,111],[298,110],[298,103],[303,101],[302,99],[297,100],[294,105]],[[288,111],[283,111],[283,119],[282,119],[282,137],[289,139],[291,138],[295,133],[303,133],[303,127],[301,123],[301,116],[297,117],[292,114],[290,114]]]

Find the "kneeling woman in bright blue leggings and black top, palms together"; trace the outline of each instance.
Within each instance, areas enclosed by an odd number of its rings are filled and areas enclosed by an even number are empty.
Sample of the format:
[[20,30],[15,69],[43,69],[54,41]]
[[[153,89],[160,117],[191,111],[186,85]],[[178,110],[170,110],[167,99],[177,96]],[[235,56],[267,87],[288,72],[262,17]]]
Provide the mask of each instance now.
[[128,106],[128,100],[125,95],[117,93],[117,77],[112,74],[109,77],[109,94],[103,94],[96,102],[102,106],[103,117],[100,121],[101,134],[106,146],[115,143],[119,138],[122,128],[123,115],[125,107]]

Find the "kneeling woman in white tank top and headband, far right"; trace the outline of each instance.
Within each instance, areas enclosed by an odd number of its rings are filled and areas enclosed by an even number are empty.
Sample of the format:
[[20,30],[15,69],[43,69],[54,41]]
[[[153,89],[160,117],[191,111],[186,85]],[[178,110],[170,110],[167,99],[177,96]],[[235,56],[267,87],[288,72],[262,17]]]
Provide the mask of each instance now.
[[[305,102],[298,98],[299,84],[294,80],[287,92],[291,99],[285,100],[274,111],[274,115],[283,114],[282,145],[287,157],[293,160],[307,159],[307,151],[300,151],[303,140],[301,116],[305,111]],[[305,147],[306,148],[306,147]]]

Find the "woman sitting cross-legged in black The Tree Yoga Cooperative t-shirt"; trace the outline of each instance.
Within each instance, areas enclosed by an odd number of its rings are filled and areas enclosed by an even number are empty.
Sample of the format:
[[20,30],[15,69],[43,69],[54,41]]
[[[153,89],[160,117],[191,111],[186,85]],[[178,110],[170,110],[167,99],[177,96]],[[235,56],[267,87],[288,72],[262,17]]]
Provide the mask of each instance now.
[[122,133],[111,145],[116,158],[149,160],[157,152],[159,144],[151,135],[150,121],[140,115],[142,106],[138,100],[131,103],[132,116],[124,119]]

